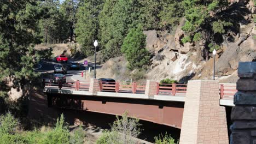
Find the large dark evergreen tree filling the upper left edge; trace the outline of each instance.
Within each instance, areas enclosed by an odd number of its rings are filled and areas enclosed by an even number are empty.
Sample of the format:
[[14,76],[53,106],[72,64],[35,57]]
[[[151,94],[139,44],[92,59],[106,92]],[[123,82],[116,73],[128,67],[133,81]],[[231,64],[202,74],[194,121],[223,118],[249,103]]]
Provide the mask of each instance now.
[[39,43],[38,19],[43,9],[36,0],[0,1],[0,95],[10,88],[28,89],[34,73],[32,44]]

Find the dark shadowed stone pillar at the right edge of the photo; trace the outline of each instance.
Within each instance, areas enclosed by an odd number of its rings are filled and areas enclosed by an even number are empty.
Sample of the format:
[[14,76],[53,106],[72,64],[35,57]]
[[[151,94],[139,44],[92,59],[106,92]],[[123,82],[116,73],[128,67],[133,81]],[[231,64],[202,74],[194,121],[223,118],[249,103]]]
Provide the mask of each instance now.
[[256,143],[256,62],[240,62],[230,143]]

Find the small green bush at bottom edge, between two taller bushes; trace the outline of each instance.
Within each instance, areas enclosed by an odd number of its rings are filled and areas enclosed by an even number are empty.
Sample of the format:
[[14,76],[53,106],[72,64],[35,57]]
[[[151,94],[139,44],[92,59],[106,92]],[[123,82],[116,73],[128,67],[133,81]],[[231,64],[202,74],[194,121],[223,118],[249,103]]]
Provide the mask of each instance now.
[[71,144],[83,144],[85,137],[85,131],[81,126],[78,129],[74,130],[74,135],[71,136],[70,143]]

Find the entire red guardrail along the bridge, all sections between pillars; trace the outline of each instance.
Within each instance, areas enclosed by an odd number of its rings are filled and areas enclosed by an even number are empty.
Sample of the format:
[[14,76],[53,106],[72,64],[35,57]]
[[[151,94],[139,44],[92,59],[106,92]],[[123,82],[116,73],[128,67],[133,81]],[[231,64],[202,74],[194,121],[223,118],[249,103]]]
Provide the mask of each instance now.
[[[52,79],[43,79],[44,87],[51,88],[66,88],[66,89],[75,89],[76,91],[89,91],[90,81],[80,82],[66,82],[62,83],[61,86],[59,83],[53,83]],[[101,92],[116,92],[116,93],[145,93],[146,83],[119,83],[119,82],[99,82]],[[156,95],[179,95],[185,96],[187,92],[187,85],[185,84],[167,84],[167,83],[156,83]],[[236,90],[236,85],[234,83],[220,83],[219,94],[220,99],[233,99]]]

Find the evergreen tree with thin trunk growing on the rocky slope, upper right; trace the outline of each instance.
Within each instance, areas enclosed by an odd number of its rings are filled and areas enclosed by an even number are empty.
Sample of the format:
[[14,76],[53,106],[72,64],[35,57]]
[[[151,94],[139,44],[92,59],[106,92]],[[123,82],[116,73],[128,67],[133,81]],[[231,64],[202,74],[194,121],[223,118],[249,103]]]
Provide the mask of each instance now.
[[[205,59],[208,60],[209,46],[218,44],[214,41],[214,37],[219,37],[219,34],[224,34],[226,28],[231,26],[230,22],[223,20],[220,13],[228,6],[228,1],[225,0],[184,0],[183,7],[185,9],[185,18],[187,21],[183,26],[183,30],[187,32],[188,37],[183,39],[184,42],[190,40],[205,40]],[[188,40],[189,39],[189,40]]]

